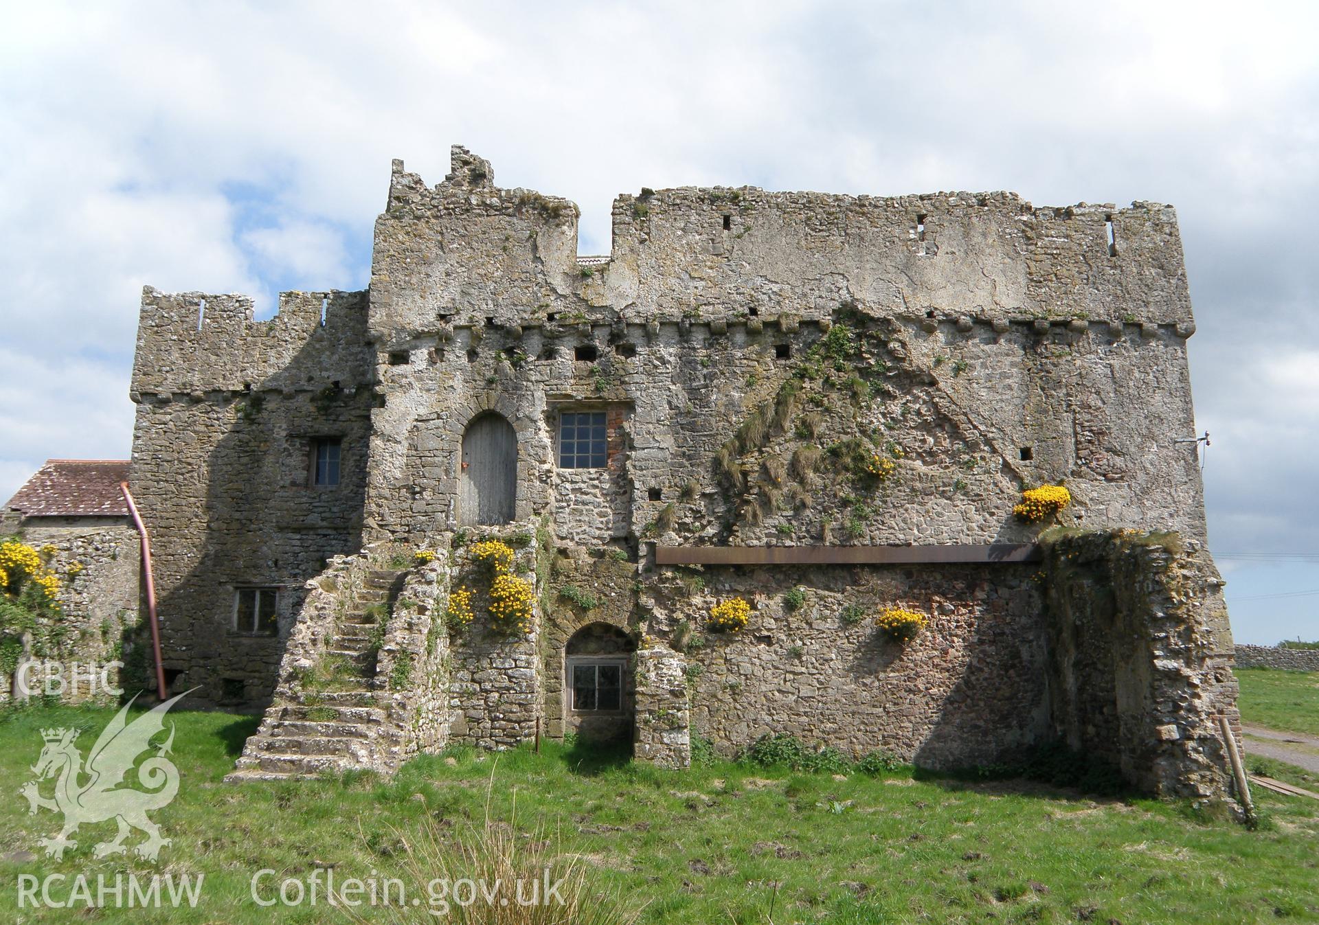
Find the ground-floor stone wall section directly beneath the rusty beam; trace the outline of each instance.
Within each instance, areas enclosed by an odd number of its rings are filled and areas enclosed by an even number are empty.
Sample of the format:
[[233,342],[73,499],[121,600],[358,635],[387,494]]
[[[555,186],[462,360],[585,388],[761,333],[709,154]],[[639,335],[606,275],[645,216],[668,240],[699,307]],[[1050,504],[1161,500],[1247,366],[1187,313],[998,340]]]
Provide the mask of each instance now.
[[[1029,565],[798,567],[675,571],[648,634],[685,650],[691,729],[731,754],[787,733],[853,756],[884,750],[930,768],[1000,760],[1049,734],[1049,654]],[[785,593],[803,590],[791,609]],[[710,607],[752,603],[740,632],[707,630]],[[882,606],[930,615],[896,643]]]

